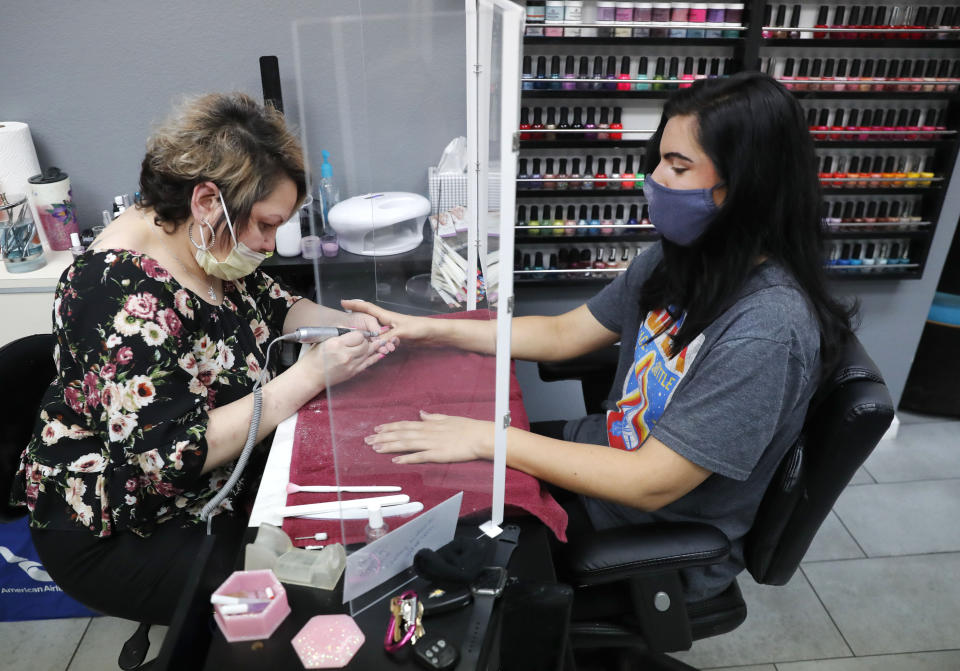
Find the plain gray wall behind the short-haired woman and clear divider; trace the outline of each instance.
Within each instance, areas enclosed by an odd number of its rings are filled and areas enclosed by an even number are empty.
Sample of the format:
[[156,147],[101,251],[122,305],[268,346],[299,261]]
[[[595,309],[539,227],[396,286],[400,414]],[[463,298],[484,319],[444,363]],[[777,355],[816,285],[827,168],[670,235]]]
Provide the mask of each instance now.
[[[81,228],[99,223],[113,196],[136,191],[151,125],[177,98],[239,90],[260,99],[260,56],[278,57],[286,116],[299,125],[295,20],[306,20],[300,37],[311,158],[319,159],[315,145],[332,145],[342,195],[352,195],[348,159],[363,166],[353,189],[425,194],[426,166],[466,132],[463,0],[5,4],[0,120],[28,123],[41,167],[56,165],[70,175]],[[427,22],[425,12],[441,17]],[[370,111],[361,115],[366,107],[357,98],[341,116],[344,110],[331,102],[337,79],[328,67],[330,28],[310,20],[344,17],[355,26],[346,17],[359,13],[369,19],[365,39],[354,28],[339,56],[354,68],[351,90],[366,97]],[[356,77],[361,64],[375,71]],[[338,135],[345,120],[356,126],[352,142]]]

